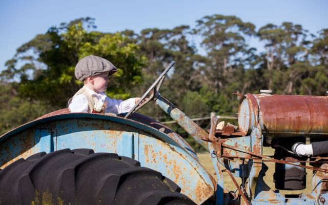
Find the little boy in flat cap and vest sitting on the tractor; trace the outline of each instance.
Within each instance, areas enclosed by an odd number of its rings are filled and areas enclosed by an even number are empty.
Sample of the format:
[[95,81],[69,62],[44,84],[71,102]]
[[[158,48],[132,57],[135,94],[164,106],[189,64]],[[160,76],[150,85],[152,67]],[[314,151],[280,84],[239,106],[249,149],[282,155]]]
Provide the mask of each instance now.
[[129,98],[116,100],[109,98],[104,92],[107,89],[108,76],[117,69],[107,59],[89,55],[82,58],[75,66],[75,77],[83,81],[84,86],[68,101],[71,112],[126,113],[140,99]]

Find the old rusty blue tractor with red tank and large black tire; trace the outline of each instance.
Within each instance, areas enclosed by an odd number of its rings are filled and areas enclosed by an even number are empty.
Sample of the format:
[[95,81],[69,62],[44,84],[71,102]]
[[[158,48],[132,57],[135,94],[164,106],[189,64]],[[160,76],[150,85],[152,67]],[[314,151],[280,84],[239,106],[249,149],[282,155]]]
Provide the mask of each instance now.
[[[2,135],[0,204],[328,203],[327,96],[246,94],[238,127],[216,130],[213,117],[208,133],[160,95],[173,65],[126,115],[63,109]],[[148,95],[146,103],[154,100],[209,152],[216,179],[182,137],[135,113]],[[265,146],[273,156],[262,153]],[[263,179],[267,162],[275,163],[275,188]],[[281,193],[303,190],[307,169],[310,193]]]

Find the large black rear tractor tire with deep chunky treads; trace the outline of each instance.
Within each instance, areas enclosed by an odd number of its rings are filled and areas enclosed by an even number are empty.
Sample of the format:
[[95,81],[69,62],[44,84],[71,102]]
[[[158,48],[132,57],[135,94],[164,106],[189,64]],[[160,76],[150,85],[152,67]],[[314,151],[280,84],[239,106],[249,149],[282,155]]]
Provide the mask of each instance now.
[[89,149],[19,159],[0,171],[0,204],[195,204],[134,159]]

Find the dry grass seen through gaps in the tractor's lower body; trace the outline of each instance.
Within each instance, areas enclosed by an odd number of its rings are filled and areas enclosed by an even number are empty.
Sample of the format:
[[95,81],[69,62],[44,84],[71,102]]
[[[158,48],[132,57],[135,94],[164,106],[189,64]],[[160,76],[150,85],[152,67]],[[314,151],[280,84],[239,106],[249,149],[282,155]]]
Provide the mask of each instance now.
[[[264,155],[273,155],[274,154],[274,149],[264,147],[263,148],[263,154]],[[204,166],[204,168],[216,179],[216,175],[214,175],[214,167],[212,163],[211,156],[208,152],[199,152],[197,153],[197,156],[201,162],[201,164]],[[269,187],[273,190],[275,190],[275,184],[273,182],[273,174],[275,173],[275,163],[273,162],[265,162],[265,165],[269,167],[269,170],[265,173],[264,176],[264,181],[269,185]],[[222,169],[223,166],[221,166]],[[306,170],[306,188],[304,190],[298,190],[298,191],[285,191],[281,190],[281,194],[300,194],[300,193],[310,193],[312,192],[311,189],[311,178],[312,178],[312,170]],[[234,191],[236,190],[236,187],[234,183],[232,182],[230,176],[228,173],[223,173],[223,180],[224,180],[224,187],[227,188],[229,191]],[[241,179],[239,177],[236,178],[238,184],[241,184]]]

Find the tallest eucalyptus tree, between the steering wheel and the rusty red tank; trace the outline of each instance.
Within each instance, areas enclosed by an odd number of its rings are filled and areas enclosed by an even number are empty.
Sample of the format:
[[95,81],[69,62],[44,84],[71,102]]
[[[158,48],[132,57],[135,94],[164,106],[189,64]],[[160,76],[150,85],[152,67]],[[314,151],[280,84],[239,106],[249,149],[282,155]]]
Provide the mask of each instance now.
[[250,85],[242,74],[252,64],[255,49],[247,42],[255,34],[255,26],[236,16],[216,14],[197,20],[193,32],[201,36],[206,51],[200,69],[203,89],[207,89],[203,93],[212,96],[211,110],[219,114],[236,112],[238,101],[232,93],[240,93],[241,88]]

